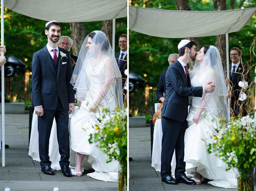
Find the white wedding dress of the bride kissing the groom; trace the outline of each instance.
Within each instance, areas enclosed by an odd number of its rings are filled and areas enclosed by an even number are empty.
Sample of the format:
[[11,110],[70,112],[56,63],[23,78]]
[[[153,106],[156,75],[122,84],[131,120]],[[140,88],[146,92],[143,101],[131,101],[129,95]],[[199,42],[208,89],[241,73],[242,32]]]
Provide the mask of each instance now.
[[[209,81],[209,76],[211,76],[211,69],[204,72],[201,75],[194,75],[191,79],[191,86],[202,86]],[[208,79],[207,79],[208,78]],[[207,96],[210,96],[208,94]],[[220,114],[221,109],[218,108],[218,96],[212,94],[209,98],[207,106],[204,108],[198,123],[193,122],[193,117],[195,116],[198,106],[202,102],[202,98],[192,97],[189,113],[187,116],[188,128],[185,132],[184,142],[184,161],[186,162],[186,171],[189,174],[195,174],[196,171],[199,172],[204,178],[213,180],[208,182],[214,186],[222,188],[236,188],[237,187],[237,170],[231,169],[226,171],[226,164],[214,156],[214,154],[208,154],[207,146],[209,143],[213,142],[210,135],[213,135],[213,130],[216,128],[216,115]],[[215,119],[212,122],[212,119]],[[203,140],[205,140],[205,142]]]

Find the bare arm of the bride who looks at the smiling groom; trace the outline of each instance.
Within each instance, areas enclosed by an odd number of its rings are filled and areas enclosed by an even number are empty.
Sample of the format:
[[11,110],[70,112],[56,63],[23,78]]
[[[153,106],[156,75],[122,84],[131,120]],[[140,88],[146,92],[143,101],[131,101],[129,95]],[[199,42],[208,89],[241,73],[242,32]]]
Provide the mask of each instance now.
[[105,63],[105,77],[104,77],[105,80],[103,81],[104,84],[102,86],[102,89],[101,89],[101,92],[100,92],[98,98],[93,103],[93,105],[90,109],[91,112],[94,112],[94,108],[98,108],[99,104],[105,98],[106,94],[109,91],[111,84],[114,81],[113,76],[115,76],[115,68],[114,68],[113,60],[110,58]]

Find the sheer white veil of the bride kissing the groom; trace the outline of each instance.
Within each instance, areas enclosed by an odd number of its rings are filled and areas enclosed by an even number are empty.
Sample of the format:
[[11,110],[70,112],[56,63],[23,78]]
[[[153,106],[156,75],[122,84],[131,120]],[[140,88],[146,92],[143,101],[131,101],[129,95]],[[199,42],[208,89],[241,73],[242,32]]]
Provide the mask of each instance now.
[[[204,83],[212,81],[216,86],[213,93],[205,93],[203,98],[206,100],[206,106],[204,107],[208,108],[209,111],[212,111],[213,115],[226,118],[228,114],[227,86],[225,83],[220,53],[215,46],[209,47],[201,64],[198,61],[195,62],[190,78],[191,80],[192,78],[198,80],[200,77],[205,78],[203,80]],[[205,84],[201,85],[204,86]],[[198,99],[198,102],[193,102],[193,105],[198,107],[202,106],[201,102],[203,98],[195,98]],[[216,111],[217,113],[213,113]]]

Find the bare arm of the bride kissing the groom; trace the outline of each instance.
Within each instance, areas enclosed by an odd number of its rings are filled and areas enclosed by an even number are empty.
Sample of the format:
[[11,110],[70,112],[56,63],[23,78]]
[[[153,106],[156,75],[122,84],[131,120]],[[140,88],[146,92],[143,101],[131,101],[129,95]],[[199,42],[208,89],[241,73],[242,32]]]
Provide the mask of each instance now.
[[[208,75],[208,77],[207,77],[207,81],[212,81],[210,84],[216,85],[215,82],[217,81],[217,77],[216,77],[216,74],[215,74],[214,71],[212,71],[212,72],[209,73],[209,75]],[[200,118],[200,115],[201,115],[201,113],[204,111],[204,108],[207,107],[207,104],[208,104],[208,102],[209,102],[209,100],[210,100],[212,94],[213,94],[213,93],[210,93],[210,92],[205,93],[205,96],[204,96],[204,98],[202,99],[202,102],[201,102],[201,104],[200,104],[200,106],[199,106],[199,108],[198,108],[198,110],[197,110],[195,116],[193,117],[193,122],[194,122],[194,123],[198,123],[198,120],[199,120],[199,118]]]

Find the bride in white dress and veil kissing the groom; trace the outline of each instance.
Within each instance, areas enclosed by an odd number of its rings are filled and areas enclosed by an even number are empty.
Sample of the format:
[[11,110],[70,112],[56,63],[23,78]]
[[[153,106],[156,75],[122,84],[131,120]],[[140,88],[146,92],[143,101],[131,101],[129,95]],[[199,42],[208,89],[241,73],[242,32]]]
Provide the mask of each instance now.
[[190,71],[191,86],[202,86],[212,81],[216,88],[213,93],[206,93],[202,98],[192,97],[184,137],[186,171],[189,174],[196,172],[196,184],[207,178],[213,180],[208,184],[236,188],[237,170],[226,171],[226,164],[207,152],[207,145],[213,142],[210,136],[217,127],[218,119],[226,118],[228,112],[227,87],[220,54],[215,46],[204,45],[197,52],[195,60],[197,62]]

